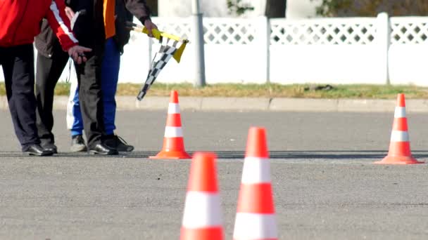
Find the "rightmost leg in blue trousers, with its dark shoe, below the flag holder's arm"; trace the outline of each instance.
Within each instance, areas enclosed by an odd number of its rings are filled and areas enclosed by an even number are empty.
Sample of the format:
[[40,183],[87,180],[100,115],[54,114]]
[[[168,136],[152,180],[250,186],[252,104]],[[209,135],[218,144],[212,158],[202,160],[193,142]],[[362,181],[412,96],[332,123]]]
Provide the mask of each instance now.
[[131,152],[134,147],[114,135],[116,101],[120,68],[120,51],[113,38],[106,40],[101,67],[101,88],[104,105],[104,125],[106,126],[106,145],[118,149],[119,152]]

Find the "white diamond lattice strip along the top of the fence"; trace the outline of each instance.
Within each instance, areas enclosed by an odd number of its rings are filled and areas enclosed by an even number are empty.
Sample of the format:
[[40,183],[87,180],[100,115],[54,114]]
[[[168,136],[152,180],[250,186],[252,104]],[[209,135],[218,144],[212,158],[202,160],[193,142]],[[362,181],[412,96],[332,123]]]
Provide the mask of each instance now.
[[[190,18],[155,18],[160,30],[189,38]],[[271,44],[371,44],[376,18],[270,20]],[[254,20],[206,18],[206,44],[250,44],[256,38]],[[391,44],[423,44],[428,39],[428,18],[391,18]]]

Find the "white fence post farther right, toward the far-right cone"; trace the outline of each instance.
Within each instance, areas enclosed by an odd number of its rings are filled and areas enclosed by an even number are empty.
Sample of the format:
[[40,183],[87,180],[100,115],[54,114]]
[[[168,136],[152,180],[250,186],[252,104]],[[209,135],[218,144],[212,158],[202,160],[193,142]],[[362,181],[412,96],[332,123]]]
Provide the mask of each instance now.
[[386,84],[391,84],[389,81],[389,45],[391,44],[391,24],[389,22],[388,13],[379,13],[377,15],[377,44],[382,65],[382,76]]

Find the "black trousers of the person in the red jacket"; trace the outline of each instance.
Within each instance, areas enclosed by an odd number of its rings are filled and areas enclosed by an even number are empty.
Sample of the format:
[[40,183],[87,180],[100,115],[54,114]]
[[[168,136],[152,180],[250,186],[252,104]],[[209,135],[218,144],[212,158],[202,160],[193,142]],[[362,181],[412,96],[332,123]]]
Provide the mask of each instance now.
[[0,65],[3,67],[6,95],[15,134],[25,151],[29,145],[40,143],[36,126],[32,44],[0,47]]

